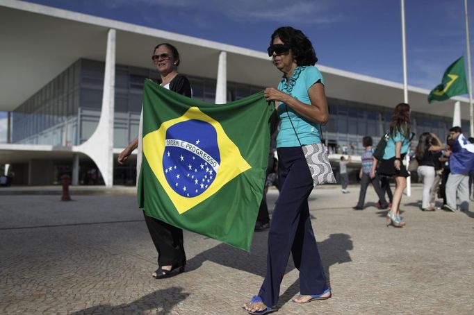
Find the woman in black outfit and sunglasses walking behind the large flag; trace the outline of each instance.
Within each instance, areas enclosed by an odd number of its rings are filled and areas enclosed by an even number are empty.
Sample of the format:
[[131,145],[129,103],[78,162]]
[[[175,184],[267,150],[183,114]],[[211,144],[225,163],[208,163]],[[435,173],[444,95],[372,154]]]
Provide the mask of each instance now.
[[[178,74],[179,53],[172,44],[158,44],[152,56],[152,60],[160,73],[159,84],[168,90],[172,90],[184,96],[191,97],[191,86],[188,78]],[[143,114],[143,112],[142,112]],[[142,119],[140,119],[140,135],[127,146],[117,158],[117,162],[122,164],[127,157],[138,147],[137,174],[140,173],[142,155]],[[179,273],[184,271],[186,265],[186,253],[183,246],[183,230],[173,225],[147,216],[145,212],[145,222],[153,244],[158,252],[158,269],[152,273],[156,279],[167,278],[172,275],[174,269],[179,269]]]

